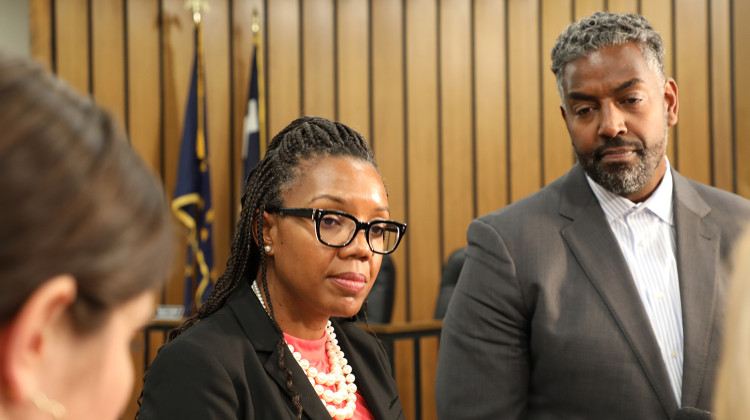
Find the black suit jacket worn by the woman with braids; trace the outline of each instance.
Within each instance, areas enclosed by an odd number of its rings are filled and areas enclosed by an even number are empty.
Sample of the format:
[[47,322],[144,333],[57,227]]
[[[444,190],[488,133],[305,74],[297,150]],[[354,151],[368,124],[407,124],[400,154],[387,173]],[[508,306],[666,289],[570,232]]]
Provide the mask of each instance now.
[[[336,338],[376,419],[404,417],[390,363],[374,337],[332,319]],[[140,420],[296,419],[279,368],[278,333],[243,283],[222,308],[163,346],[144,377]],[[304,419],[331,416],[297,362],[284,349]]]

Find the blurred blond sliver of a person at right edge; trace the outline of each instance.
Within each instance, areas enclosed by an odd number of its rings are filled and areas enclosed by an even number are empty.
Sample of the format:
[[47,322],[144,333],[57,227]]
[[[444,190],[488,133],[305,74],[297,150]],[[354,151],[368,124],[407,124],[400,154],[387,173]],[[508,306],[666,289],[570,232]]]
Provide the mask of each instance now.
[[750,418],[750,227],[738,242],[733,260],[716,379],[716,420]]

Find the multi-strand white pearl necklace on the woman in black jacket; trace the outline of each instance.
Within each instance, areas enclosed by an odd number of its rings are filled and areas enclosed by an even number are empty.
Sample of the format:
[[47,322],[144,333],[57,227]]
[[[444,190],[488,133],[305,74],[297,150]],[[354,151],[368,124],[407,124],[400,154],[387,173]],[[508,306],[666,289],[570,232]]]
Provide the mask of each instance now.
[[[260,301],[260,305],[263,309],[266,309],[266,304],[263,301],[263,296],[260,294],[258,284],[253,281],[252,285],[255,296]],[[354,384],[354,374],[352,374],[352,367],[349,366],[348,361],[344,357],[344,352],[341,351],[341,347],[338,345],[336,339],[336,333],[333,331],[333,325],[329,320],[326,324],[326,354],[328,355],[328,363],[331,365],[331,371],[329,373],[318,372],[314,366],[310,366],[310,362],[307,359],[303,359],[300,352],[294,350],[294,346],[287,343],[289,351],[292,352],[294,360],[299,363],[302,370],[307,375],[307,379],[312,384],[315,392],[320,397],[320,401],[328,410],[328,414],[331,418],[336,420],[345,420],[354,417],[354,411],[357,408],[357,385]],[[335,391],[331,389],[325,389],[324,385],[333,387]],[[338,408],[337,405],[346,403],[344,408]]]

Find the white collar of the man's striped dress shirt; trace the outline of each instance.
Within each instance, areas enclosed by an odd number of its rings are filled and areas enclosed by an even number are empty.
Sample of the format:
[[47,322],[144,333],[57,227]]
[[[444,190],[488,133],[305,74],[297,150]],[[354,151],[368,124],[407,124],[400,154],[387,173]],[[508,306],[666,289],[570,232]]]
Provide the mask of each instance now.
[[599,205],[602,207],[608,221],[611,222],[614,219],[639,211],[640,209],[648,209],[661,220],[667,222],[670,226],[672,225],[672,171],[669,159],[666,156],[664,159],[666,160],[667,169],[664,172],[661,182],[659,182],[651,197],[637,204],[625,197],[609,192],[586,174],[586,181],[588,181],[591,191],[593,191],[596,199],[599,201]]

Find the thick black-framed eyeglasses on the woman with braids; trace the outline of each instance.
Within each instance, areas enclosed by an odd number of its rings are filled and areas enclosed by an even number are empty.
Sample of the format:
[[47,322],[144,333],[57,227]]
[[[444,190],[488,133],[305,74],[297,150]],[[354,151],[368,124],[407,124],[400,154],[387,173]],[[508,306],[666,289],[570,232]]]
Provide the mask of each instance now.
[[307,217],[315,221],[315,235],[323,245],[343,248],[349,245],[357,232],[365,231],[367,245],[372,252],[390,254],[396,250],[401,238],[406,232],[406,224],[393,220],[374,220],[360,222],[354,216],[343,211],[280,208],[277,212],[282,216]]

